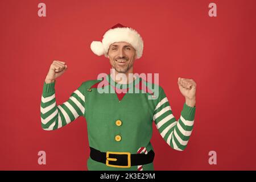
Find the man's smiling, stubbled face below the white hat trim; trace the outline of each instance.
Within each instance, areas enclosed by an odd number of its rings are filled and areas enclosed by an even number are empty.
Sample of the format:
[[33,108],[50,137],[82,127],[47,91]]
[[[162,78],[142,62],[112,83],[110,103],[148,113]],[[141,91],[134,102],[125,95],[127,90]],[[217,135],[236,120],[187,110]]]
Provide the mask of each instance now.
[[108,58],[112,67],[118,73],[126,73],[133,67],[136,51],[131,44],[116,42],[110,45]]

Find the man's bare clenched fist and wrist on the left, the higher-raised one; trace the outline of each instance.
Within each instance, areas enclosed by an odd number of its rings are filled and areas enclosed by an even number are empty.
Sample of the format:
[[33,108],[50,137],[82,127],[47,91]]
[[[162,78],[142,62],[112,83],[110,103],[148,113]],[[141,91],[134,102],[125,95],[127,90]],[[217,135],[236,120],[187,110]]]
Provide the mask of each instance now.
[[54,60],[46,76],[46,80],[45,80],[46,84],[54,82],[55,79],[61,76],[66,71],[67,68],[68,66],[65,64],[65,62]]

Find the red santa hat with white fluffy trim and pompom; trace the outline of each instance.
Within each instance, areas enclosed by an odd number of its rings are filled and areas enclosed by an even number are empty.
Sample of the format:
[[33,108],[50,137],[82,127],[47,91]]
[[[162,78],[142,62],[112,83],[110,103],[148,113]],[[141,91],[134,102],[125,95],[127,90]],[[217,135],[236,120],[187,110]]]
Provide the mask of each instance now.
[[108,57],[109,46],[114,42],[127,42],[136,50],[137,59],[142,56],[143,40],[141,35],[133,28],[125,27],[119,23],[105,32],[102,42],[93,41],[90,44],[90,49],[98,56],[105,55]]

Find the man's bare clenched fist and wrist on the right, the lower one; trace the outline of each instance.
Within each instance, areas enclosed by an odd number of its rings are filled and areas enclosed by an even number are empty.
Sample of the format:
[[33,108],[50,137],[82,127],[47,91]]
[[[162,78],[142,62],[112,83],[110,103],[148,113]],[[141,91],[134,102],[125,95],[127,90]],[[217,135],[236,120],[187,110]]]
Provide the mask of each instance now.
[[194,107],[196,104],[196,82],[188,78],[178,78],[177,84],[181,94],[185,97],[186,104]]

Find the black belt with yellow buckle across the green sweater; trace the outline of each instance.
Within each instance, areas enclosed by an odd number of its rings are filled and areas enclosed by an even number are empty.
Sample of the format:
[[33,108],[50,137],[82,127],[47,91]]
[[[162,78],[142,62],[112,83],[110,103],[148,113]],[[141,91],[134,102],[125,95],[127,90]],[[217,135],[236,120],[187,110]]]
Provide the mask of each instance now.
[[155,152],[149,151],[147,154],[130,154],[129,152],[101,152],[90,147],[90,158],[111,167],[129,168],[152,163]]

